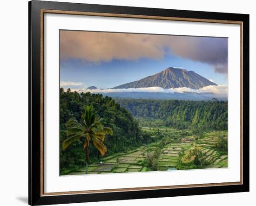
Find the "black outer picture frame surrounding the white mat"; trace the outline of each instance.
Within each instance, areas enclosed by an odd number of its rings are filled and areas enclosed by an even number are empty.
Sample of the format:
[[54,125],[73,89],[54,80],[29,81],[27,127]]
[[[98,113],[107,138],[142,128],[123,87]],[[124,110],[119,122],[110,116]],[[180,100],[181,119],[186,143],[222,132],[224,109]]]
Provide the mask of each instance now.
[[[145,15],[155,17],[173,17],[190,19],[216,19],[226,21],[240,21],[243,23],[243,183],[239,185],[181,187],[169,189],[150,189],[137,191],[118,191],[107,193],[81,193],[44,195],[42,189],[41,157],[41,50],[40,50],[40,11],[42,9],[58,11],[75,11],[91,13],[112,13],[124,15]],[[249,15],[235,13],[215,13],[202,11],[185,11],[159,8],[142,8],[129,6],[107,6],[79,3],[64,3],[32,0],[28,2],[29,25],[29,178],[28,203],[29,205],[50,205],[64,203],[79,203],[108,200],[129,200],[157,197],[172,197],[184,195],[200,195],[214,193],[237,193],[249,191]]]

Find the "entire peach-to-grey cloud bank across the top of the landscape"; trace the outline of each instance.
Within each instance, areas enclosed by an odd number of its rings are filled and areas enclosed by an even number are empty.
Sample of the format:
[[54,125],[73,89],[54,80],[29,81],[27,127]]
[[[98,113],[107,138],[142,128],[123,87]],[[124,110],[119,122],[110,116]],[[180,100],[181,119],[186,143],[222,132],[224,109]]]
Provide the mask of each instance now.
[[176,55],[227,73],[228,39],[111,32],[61,31],[61,59],[100,63],[113,59],[162,59]]

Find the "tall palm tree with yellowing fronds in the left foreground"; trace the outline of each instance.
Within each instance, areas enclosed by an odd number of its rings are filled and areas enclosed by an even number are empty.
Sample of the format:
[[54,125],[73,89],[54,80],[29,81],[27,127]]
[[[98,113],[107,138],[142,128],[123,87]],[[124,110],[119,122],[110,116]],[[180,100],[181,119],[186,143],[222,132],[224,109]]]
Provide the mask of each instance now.
[[103,156],[107,152],[107,148],[103,144],[105,136],[106,134],[113,135],[111,128],[102,126],[102,120],[102,118],[99,120],[96,119],[93,113],[93,106],[87,106],[85,107],[85,112],[82,114],[82,124],[75,119],[67,121],[67,136],[70,137],[63,142],[63,149],[66,149],[68,145],[80,139],[84,141],[86,174],[88,174],[89,143],[92,142]]

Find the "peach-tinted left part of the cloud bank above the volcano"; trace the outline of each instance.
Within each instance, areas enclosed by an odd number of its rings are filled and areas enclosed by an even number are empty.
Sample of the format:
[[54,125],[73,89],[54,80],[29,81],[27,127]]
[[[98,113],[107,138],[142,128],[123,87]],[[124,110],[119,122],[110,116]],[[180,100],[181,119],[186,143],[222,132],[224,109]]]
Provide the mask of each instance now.
[[61,31],[61,58],[77,58],[99,63],[112,59],[162,58],[164,51],[143,35]]

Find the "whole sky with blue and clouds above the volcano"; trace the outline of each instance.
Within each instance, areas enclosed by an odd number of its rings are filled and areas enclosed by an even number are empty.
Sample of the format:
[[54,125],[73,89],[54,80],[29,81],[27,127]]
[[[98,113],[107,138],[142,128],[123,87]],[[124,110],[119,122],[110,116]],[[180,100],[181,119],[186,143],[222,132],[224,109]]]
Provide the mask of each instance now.
[[227,86],[228,39],[113,32],[60,32],[60,81],[64,89],[108,89],[185,68]]

